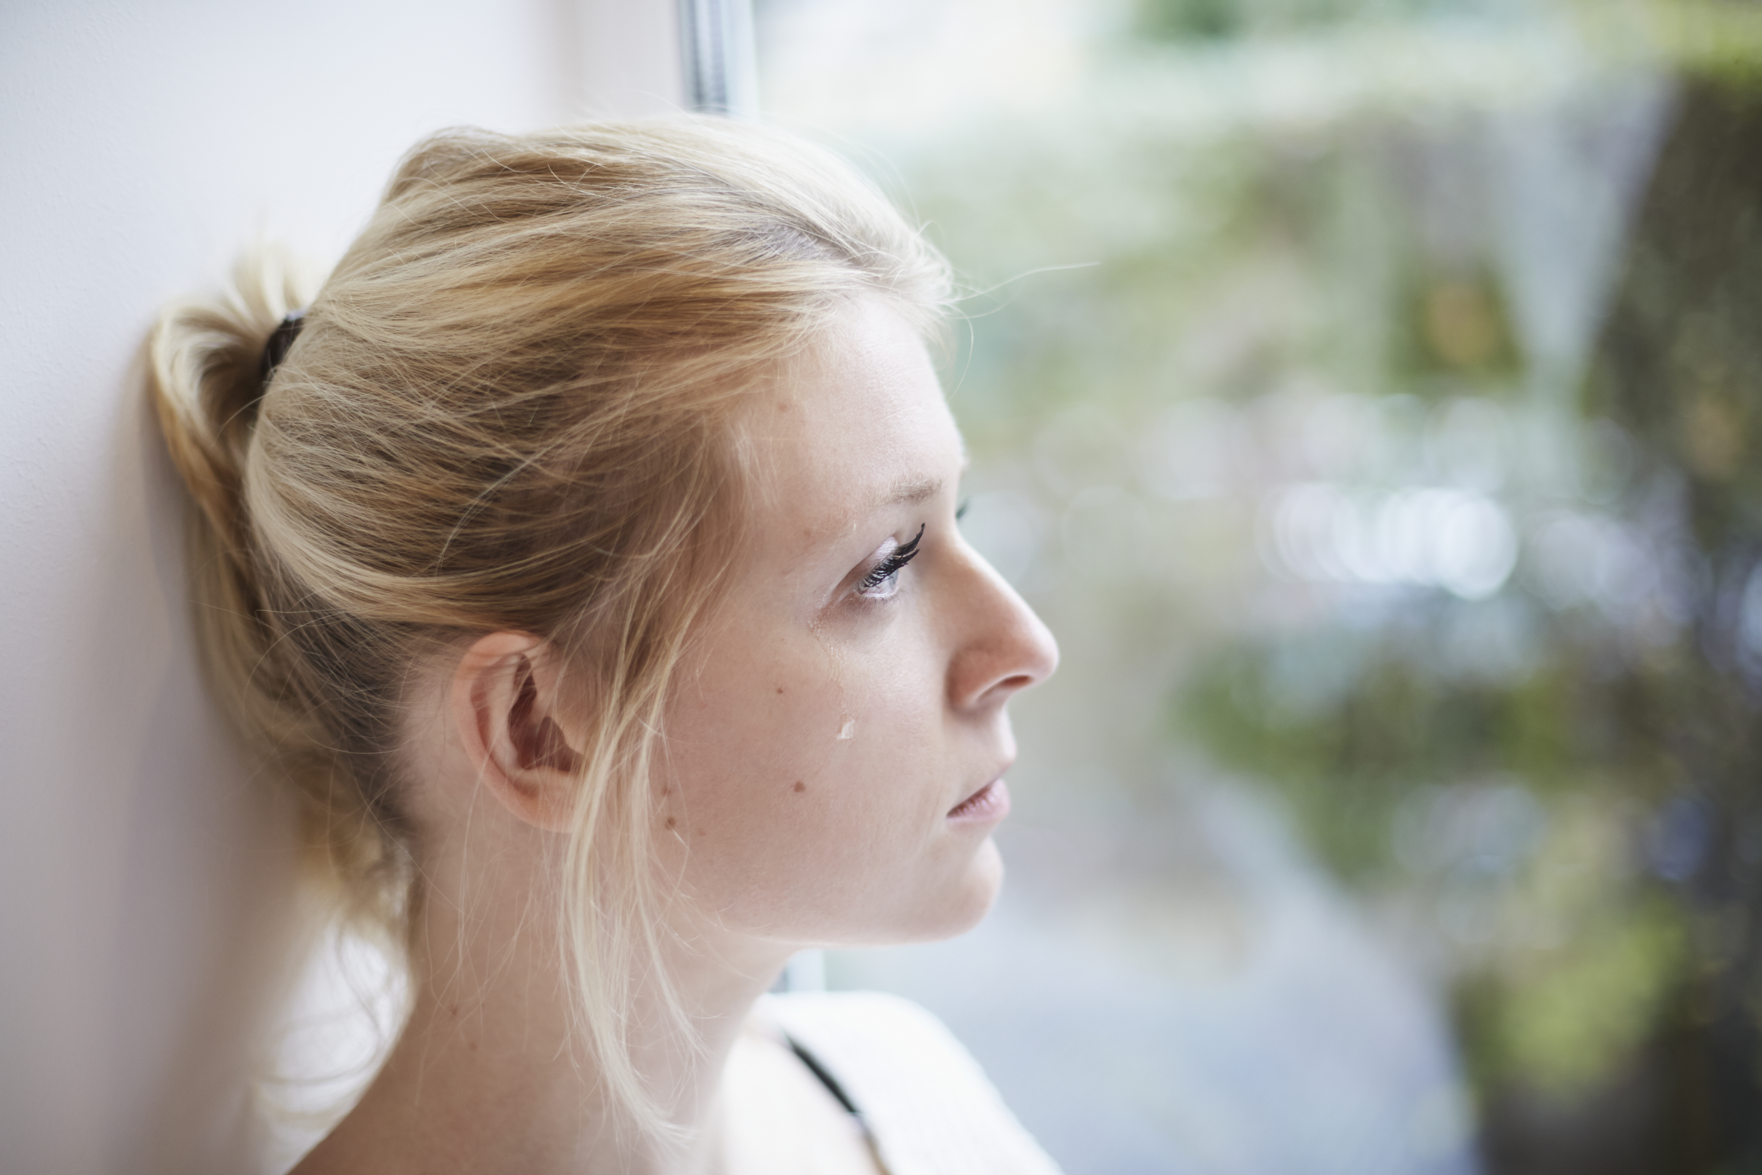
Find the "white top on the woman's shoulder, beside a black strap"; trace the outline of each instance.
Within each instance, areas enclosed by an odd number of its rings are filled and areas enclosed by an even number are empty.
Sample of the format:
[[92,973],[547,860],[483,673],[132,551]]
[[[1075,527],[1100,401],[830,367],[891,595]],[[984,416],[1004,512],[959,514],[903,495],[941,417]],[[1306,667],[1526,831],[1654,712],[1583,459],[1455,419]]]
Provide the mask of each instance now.
[[886,1175],[1059,1175],[978,1060],[923,1008],[879,992],[766,995],[754,1009],[839,1083]]

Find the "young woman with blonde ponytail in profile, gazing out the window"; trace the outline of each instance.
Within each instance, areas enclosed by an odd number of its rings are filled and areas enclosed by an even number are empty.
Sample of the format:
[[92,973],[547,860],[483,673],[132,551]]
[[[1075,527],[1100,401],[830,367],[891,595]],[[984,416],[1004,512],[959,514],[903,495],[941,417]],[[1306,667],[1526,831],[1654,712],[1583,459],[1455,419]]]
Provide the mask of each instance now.
[[846,166],[680,120],[442,134],[315,294],[164,315],[211,676],[411,976],[296,1171],[1054,1170],[925,1013],[763,997],[997,891],[1055,648],[955,525],[946,294]]

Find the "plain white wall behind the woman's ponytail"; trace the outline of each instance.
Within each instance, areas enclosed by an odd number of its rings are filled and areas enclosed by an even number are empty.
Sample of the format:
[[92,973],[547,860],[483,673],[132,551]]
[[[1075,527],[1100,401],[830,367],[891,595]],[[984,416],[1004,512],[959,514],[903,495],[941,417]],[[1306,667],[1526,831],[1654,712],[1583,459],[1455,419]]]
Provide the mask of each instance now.
[[673,12],[0,4],[0,1170],[247,1166],[287,830],[196,678],[155,307],[257,236],[335,255],[426,130],[677,104]]

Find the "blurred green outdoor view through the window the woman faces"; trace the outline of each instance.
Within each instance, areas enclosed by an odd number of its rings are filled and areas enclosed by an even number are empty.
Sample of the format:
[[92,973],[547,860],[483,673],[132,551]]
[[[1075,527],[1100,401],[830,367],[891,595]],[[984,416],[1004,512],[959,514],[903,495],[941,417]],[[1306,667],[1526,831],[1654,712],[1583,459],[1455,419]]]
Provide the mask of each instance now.
[[1064,666],[943,1015],[1071,1175],[1762,1171],[1762,5],[759,0]]

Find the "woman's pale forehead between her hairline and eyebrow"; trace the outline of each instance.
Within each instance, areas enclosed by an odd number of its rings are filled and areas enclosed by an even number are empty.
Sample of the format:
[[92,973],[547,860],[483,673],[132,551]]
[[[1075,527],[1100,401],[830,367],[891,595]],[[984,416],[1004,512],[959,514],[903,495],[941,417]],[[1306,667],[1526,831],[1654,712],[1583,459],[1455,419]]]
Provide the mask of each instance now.
[[758,511],[802,530],[858,525],[925,497],[962,462],[923,340],[886,303],[849,307],[751,405]]

